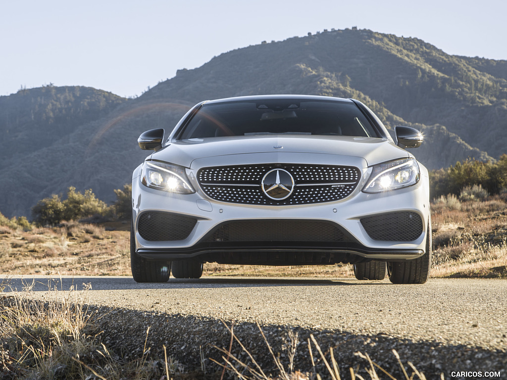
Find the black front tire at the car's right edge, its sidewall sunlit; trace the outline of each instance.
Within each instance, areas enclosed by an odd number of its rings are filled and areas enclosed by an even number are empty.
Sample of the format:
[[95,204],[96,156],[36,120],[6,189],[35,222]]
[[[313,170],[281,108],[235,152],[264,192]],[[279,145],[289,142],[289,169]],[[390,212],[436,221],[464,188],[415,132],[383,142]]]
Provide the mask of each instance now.
[[387,263],[389,280],[393,284],[424,284],[428,280],[431,268],[431,217],[428,221],[427,234],[426,253],[421,257],[413,260]]

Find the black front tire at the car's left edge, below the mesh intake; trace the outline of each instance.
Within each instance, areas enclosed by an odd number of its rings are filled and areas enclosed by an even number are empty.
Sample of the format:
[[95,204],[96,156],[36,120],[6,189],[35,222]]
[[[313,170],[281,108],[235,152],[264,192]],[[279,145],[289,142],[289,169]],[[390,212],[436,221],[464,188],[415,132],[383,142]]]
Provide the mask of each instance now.
[[171,274],[171,261],[152,261],[135,251],[134,222],[130,225],[130,268],[135,282],[167,282]]

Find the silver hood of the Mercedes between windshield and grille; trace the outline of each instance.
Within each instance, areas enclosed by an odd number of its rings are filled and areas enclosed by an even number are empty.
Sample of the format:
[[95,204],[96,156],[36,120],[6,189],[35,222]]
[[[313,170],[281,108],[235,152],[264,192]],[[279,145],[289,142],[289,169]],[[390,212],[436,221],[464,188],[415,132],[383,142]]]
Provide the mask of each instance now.
[[190,168],[197,159],[231,156],[230,162],[234,163],[237,155],[258,153],[275,153],[277,157],[284,153],[348,156],[364,159],[367,166],[410,156],[392,141],[380,138],[257,135],[173,141],[155,152],[151,159]]

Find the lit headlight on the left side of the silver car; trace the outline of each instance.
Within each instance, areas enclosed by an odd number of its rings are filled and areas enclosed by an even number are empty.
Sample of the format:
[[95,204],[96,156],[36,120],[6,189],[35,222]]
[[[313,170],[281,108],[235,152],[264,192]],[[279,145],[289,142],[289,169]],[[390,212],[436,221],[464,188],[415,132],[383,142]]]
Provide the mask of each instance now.
[[141,182],[145,186],[169,193],[195,193],[183,167],[158,161],[144,162]]

